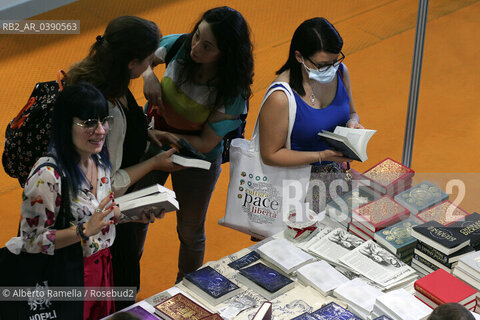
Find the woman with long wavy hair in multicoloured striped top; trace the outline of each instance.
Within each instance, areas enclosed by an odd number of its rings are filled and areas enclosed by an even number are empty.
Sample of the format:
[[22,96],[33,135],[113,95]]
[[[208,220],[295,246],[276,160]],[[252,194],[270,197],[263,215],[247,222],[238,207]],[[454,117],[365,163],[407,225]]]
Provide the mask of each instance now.
[[[162,38],[153,65],[165,62],[179,37]],[[151,70],[143,75],[145,97],[158,107],[157,128],[185,138],[211,162],[210,170],[188,168],[172,173],[180,205],[177,281],[203,264],[205,218],[220,175],[222,138],[240,126],[239,115],[245,112],[253,76],[250,32],[238,11],[229,7],[206,11],[184,39],[161,83]],[[168,175],[157,171],[146,185],[152,181],[163,184]]]

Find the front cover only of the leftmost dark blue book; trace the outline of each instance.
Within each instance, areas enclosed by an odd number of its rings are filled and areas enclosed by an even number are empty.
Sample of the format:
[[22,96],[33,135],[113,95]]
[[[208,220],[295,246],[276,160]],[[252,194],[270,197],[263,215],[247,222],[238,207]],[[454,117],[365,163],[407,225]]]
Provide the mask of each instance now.
[[185,279],[215,299],[239,288],[210,266],[187,274]]

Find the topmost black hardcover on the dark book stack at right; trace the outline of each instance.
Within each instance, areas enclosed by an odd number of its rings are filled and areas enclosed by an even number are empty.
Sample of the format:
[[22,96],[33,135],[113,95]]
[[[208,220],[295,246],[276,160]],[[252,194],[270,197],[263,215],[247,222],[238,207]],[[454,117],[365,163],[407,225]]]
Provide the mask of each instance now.
[[412,236],[446,255],[470,244],[470,239],[458,228],[446,227],[435,220],[413,227]]

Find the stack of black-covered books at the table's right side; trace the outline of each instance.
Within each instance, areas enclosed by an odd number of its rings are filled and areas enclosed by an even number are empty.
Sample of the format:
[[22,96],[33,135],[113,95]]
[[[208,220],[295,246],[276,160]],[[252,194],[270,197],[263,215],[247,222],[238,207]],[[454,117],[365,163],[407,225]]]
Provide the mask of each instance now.
[[446,227],[434,220],[413,227],[412,236],[418,240],[412,267],[423,275],[440,268],[452,273],[454,263],[473,250],[468,247],[470,239],[458,228]]

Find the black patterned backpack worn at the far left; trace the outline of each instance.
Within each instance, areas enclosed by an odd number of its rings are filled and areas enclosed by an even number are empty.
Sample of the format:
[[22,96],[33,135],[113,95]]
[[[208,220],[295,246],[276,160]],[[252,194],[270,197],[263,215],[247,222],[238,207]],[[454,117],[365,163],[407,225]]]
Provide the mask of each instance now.
[[47,154],[52,110],[61,90],[59,82],[37,83],[27,104],[5,130],[3,168],[9,176],[18,179],[22,188],[35,162]]

